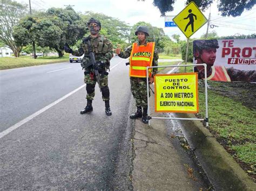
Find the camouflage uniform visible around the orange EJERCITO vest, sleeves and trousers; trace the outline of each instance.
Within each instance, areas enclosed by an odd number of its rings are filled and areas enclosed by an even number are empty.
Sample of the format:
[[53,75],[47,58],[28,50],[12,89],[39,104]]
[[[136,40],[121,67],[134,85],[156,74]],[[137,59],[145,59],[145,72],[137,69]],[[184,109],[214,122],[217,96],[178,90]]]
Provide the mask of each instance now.
[[[139,44],[139,43],[138,43]],[[139,44],[140,45],[140,44]],[[144,44],[147,45],[147,41]],[[121,52],[118,56],[120,58],[129,58],[131,55],[132,46],[129,46],[125,49],[124,52]],[[154,49],[154,56],[152,66],[158,66],[158,52],[156,48]],[[153,68],[152,75],[157,73],[157,68]],[[146,77],[130,77],[131,82],[131,91],[136,102],[137,107],[147,108],[147,80]]]

